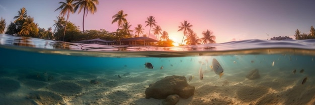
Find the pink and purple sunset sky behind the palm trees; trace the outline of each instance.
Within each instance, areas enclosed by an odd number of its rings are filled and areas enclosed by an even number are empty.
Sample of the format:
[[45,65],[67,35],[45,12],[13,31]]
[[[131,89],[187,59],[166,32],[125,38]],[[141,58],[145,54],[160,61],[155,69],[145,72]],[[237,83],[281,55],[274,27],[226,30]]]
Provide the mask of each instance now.
[[[52,27],[53,20],[59,15],[59,11],[54,11],[59,7],[59,1],[64,0],[1,0],[0,16],[6,19],[8,25],[24,6],[39,27]],[[137,24],[145,26],[146,17],[152,15],[176,42],[182,40],[183,31],[177,30],[184,20],[193,25],[192,29],[199,38],[203,37],[202,31],[213,31],[217,43],[267,39],[280,35],[293,36],[296,29],[308,33],[309,27],[315,25],[313,4],[313,0],[99,0],[97,12],[86,17],[85,29],[115,31],[117,23],[111,24],[112,16],[124,10],[132,24],[131,29]],[[82,19],[82,13],[69,17],[81,29]],[[145,27],[144,31],[148,34],[149,27]]]

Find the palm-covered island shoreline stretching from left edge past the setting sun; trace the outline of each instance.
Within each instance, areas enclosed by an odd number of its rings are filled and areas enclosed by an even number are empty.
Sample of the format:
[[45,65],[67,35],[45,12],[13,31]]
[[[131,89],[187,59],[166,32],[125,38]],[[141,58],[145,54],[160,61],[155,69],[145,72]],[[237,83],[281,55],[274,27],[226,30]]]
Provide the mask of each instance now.
[[[19,36],[27,36],[27,37],[36,37],[42,39],[54,39],[60,41],[68,41],[68,42],[76,42],[79,40],[86,39],[94,39],[101,38],[105,40],[120,40],[122,38],[130,38],[130,37],[139,37],[139,36],[147,36],[150,37],[150,33],[152,32],[155,35],[155,39],[158,37],[159,42],[154,43],[156,46],[173,46],[173,40],[169,38],[169,33],[162,29],[154,16],[150,15],[147,17],[147,20],[144,20],[145,26],[149,26],[148,35],[144,34],[144,28],[141,23],[137,24],[134,29],[132,28],[132,24],[127,20],[127,13],[124,13],[123,10],[118,11],[116,14],[112,16],[113,23],[117,23],[118,28],[116,31],[110,32],[106,29],[100,30],[85,30],[84,29],[84,21],[87,14],[95,13],[97,11],[97,5],[99,4],[98,0],[65,0],[59,2],[60,6],[55,9],[55,11],[59,11],[60,14],[56,16],[56,20],[54,20],[54,24],[52,27],[48,27],[47,29],[39,27],[37,23],[34,22],[34,17],[27,14],[27,10],[25,7],[22,7],[18,14],[14,17],[15,21],[6,26],[6,20],[1,18],[0,21],[0,33],[19,35]],[[83,11],[83,31],[80,30],[79,26],[75,25],[71,21],[69,21],[70,14],[80,13]],[[183,45],[183,41],[186,41],[186,44],[205,44],[205,43],[215,43],[215,36],[213,35],[213,31],[205,30],[201,34],[203,37],[199,38],[197,33],[193,31],[193,25],[184,20],[184,22],[180,22],[181,24],[178,26],[178,31],[183,31],[183,39],[181,44]],[[6,29],[7,27],[7,29]],[[152,29],[152,30],[151,30]],[[6,30],[6,31],[5,31]],[[161,35],[161,36],[160,36]],[[186,36],[186,39],[184,39]]]

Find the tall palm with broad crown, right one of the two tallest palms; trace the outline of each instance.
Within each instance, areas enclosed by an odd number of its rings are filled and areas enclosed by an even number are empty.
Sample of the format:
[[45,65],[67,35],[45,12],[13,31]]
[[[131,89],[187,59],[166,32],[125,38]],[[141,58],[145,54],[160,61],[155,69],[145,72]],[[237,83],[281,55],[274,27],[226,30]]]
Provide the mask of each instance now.
[[[94,14],[96,12],[96,5],[99,4],[99,0],[75,0],[77,2],[73,3],[75,5],[74,12],[79,8],[78,13],[83,9],[83,34],[84,34],[84,17],[88,15],[89,11]],[[86,14],[87,13],[87,14]]]

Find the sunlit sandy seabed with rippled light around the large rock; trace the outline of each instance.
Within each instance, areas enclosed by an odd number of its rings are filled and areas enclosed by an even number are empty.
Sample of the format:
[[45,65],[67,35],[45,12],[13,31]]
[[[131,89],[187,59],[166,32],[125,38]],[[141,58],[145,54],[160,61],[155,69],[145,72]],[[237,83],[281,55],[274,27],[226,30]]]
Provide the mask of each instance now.
[[[255,80],[246,72],[196,73],[165,70],[128,71],[0,71],[0,104],[162,104],[145,98],[150,83],[170,75],[194,75],[195,93],[177,104],[315,104],[313,77],[301,85],[303,74],[263,72]],[[119,78],[117,75],[120,75]],[[91,80],[98,82],[91,83]]]

